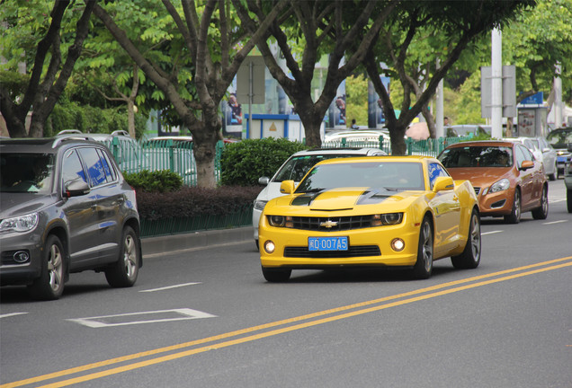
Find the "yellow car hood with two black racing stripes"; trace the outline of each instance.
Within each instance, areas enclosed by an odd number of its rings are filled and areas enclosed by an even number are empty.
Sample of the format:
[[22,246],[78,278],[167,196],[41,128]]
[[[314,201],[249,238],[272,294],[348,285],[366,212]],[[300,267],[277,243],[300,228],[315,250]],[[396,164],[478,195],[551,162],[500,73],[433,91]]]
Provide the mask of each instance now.
[[409,206],[420,191],[393,191],[379,188],[341,188],[300,193],[273,199],[271,207],[289,207],[292,212],[344,211],[355,207],[376,207],[377,211],[396,211]]

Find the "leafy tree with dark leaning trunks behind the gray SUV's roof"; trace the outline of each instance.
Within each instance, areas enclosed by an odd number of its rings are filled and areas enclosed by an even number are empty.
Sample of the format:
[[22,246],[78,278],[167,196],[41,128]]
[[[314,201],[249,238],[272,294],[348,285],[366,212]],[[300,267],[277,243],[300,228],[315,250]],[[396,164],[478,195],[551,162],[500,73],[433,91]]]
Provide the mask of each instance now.
[[94,4],[94,0],[3,2],[0,49],[7,63],[0,67],[0,110],[11,137],[43,135],[46,119],[81,54]]

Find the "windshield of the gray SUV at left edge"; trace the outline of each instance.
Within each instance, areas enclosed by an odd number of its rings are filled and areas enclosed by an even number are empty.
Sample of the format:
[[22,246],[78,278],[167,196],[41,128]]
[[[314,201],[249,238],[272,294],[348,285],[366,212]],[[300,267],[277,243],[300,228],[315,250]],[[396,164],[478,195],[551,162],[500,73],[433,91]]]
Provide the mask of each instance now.
[[0,163],[0,190],[3,192],[51,192],[53,154],[3,153]]

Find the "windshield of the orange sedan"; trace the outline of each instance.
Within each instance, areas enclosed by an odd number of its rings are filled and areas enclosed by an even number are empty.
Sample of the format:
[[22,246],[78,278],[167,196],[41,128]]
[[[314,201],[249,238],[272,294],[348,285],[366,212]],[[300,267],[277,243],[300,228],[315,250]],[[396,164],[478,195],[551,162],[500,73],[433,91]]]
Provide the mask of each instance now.
[[454,147],[444,150],[439,160],[445,168],[511,167],[513,149],[495,145]]

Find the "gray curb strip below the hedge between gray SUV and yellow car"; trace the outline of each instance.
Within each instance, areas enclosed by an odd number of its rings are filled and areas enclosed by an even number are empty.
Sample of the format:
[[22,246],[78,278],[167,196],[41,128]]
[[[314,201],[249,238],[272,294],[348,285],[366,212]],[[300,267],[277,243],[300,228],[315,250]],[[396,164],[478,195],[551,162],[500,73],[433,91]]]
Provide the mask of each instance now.
[[189,234],[170,234],[141,239],[143,257],[165,252],[184,251],[193,248],[203,248],[227,242],[252,241],[255,243],[253,226],[231,229],[217,229]]

